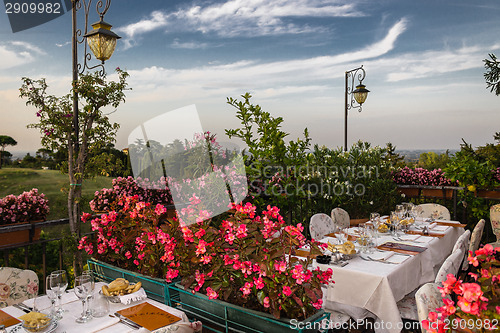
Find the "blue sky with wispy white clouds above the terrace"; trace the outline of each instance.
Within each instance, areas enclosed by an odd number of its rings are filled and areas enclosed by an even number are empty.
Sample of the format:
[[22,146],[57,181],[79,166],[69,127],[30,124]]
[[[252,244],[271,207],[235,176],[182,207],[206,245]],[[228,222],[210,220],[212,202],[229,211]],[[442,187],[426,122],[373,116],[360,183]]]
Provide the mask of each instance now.
[[[226,140],[224,128],[238,126],[226,97],[245,92],[284,118],[290,139],[307,127],[314,143],[342,146],[344,72],[360,65],[371,92],[349,114],[350,144],[457,149],[500,131],[482,62],[500,56],[497,0],[114,0],[105,20],[122,36],[107,71],[128,70],[133,89],[111,116],[118,148],[142,122],[191,104]],[[18,97],[21,77],[69,92],[70,27],[66,14],[12,33],[0,13],[0,134],[18,141],[10,151],[40,147],[26,129],[36,110]]]

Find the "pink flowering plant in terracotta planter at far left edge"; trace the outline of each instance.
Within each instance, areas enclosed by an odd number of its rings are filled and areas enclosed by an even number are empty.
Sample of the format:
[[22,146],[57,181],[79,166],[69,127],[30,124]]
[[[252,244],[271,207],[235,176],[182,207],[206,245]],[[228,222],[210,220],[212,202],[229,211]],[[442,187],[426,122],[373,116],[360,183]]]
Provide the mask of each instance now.
[[[38,240],[41,228],[35,227],[33,223],[44,221],[49,211],[48,200],[36,188],[23,192],[19,196],[11,194],[0,199],[0,230],[3,229],[0,246]],[[11,230],[12,227],[22,224],[31,224],[31,226]]]

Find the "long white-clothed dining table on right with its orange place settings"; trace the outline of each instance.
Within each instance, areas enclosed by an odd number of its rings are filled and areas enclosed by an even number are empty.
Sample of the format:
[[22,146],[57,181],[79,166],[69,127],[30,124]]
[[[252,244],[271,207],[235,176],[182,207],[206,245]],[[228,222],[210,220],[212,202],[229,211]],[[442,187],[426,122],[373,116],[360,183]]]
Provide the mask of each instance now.
[[[350,260],[330,264],[314,261],[315,267],[333,270],[334,283],[323,288],[323,308],[346,314],[354,321],[373,318],[376,333],[401,332],[404,324],[398,301],[421,285],[434,282],[441,264],[465,231],[457,221],[416,222],[418,228],[412,226],[404,235],[377,232],[377,247],[372,254],[358,253]],[[357,227],[348,232],[356,243]],[[320,242],[339,244],[337,234],[329,234]],[[398,251],[394,247],[419,251]]]

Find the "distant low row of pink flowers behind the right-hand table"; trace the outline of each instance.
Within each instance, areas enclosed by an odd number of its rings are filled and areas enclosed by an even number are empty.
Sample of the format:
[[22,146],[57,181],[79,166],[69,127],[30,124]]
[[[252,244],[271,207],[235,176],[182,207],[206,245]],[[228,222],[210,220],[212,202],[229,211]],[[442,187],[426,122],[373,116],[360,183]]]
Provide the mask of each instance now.
[[400,185],[428,185],[428,186],[457,186],[457,182],[445,177],[444,171],[434,169],[429,171],[424,168],[410,169],[404,167],[393,172],[392,177]]

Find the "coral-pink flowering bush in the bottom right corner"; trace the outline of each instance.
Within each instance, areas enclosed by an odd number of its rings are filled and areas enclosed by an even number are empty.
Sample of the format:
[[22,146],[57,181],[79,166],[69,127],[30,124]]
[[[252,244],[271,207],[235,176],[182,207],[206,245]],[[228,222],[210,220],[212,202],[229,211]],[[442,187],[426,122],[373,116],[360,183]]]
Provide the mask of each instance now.
[[457,328],[474,332],[497,332],[500,320],[500,247],[490,244],[469,254],[472,281],[452,274],[440,287],[444,306],[422,321],[429,332],[452,332]]

